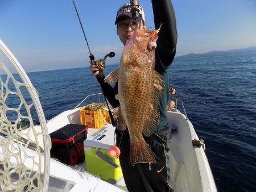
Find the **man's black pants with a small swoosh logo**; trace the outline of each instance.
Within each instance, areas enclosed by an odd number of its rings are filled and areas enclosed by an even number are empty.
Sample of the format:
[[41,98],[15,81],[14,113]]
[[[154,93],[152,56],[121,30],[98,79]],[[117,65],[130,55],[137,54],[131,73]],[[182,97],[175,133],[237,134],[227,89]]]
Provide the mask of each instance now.
[[[130,192],[166,192],[171,191],[169,185],[170,160],[169,147],[166,142],[157,137],[145,138],[151,151],[154,153],[156,164],[130,162],[130,137],[128,131],[116,131],[117,146],[121,150],[119,156],[123,178]],[[151,169],[151,170],[150,170]]]

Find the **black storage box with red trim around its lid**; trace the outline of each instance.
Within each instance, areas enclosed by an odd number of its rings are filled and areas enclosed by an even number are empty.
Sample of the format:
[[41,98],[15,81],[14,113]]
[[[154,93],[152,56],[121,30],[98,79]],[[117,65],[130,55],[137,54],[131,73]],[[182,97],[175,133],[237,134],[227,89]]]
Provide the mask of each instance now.
[[51,157],[64,164],[75,166],[84,161],[84,140],[88,127],[81,124],[67,124],[49,134],[52,140]]

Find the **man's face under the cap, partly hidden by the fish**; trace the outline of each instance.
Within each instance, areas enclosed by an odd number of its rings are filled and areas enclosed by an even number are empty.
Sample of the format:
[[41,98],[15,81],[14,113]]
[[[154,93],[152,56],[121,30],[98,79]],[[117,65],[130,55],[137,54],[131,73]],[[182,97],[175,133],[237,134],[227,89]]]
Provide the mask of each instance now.
[[[133,30],[130,27],[131,18],[129,16],[125,16],[118,20],[117,22],[117,35],[119,39],[123,43],[126,44],[126,41],[133,36]],[[146,29],[146,26],[143,24],[140,29]]]

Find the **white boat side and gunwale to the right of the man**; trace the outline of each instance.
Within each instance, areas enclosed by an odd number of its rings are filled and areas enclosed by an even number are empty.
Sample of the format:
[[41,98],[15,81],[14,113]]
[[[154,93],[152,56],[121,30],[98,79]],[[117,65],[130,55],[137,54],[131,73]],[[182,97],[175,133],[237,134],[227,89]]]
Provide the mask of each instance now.
[[170,143],[171,185],[175,191],[217,191],[203,147],[192,146],[199,140],[192,123],[177,110],[167,115],[177,127]]

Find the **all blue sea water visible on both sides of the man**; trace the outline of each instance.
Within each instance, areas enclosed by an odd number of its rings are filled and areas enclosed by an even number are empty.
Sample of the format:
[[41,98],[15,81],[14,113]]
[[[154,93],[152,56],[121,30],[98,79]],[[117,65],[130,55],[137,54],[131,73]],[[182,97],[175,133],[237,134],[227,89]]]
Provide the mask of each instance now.
[[[117,67],[107,65],[105,73]],[[47,120],[101,92],[88,67],[28,76]],[[256,191],[255,80],[256,53],[176,57],[171,65],[170,86],[176,89],[172,99],[183,101],[204,140],[218,191]]]

